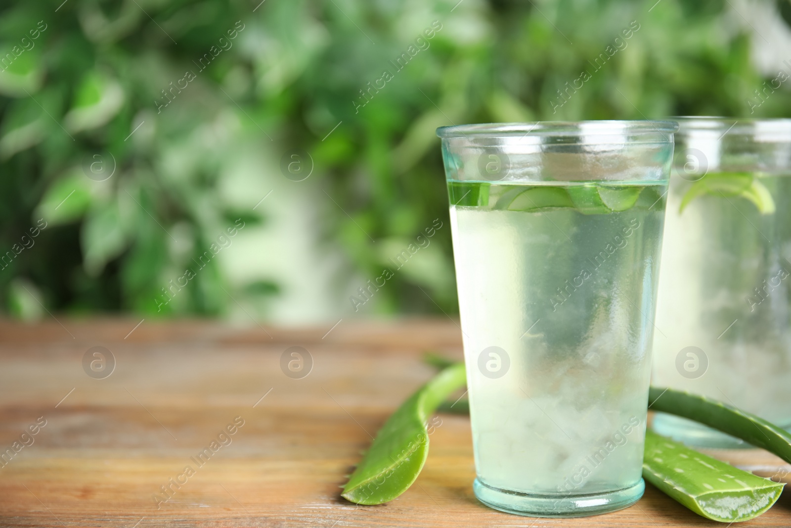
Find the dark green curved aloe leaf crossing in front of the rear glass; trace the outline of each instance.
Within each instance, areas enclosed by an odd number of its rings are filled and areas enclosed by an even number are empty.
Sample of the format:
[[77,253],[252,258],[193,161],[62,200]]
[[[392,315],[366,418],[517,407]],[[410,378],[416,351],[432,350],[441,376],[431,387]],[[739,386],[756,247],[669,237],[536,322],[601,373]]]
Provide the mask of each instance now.
[[705,396],[675,389],[651,387],[649,407],[713,427],[791,462],[791,433],[750,412]]

